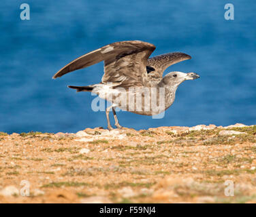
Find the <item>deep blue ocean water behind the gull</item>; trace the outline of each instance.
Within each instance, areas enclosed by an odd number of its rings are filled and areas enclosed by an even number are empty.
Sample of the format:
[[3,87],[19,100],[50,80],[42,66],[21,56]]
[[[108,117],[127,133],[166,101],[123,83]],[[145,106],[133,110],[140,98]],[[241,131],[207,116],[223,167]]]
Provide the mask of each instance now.
[[[31,20],[20,20],[28,3]],[[235,19],[225,20],[225,3]],[[170,71],[196,72],[163,119],[119,112],[121,125],[256,123],[256,3],[248,1],[32,1],[0,7],[0,132],[77,132],[106,127],[91,109],[95,96],[67,85],[98,83],[103,63],[52,80],[71,60],[115,41],[153,43],[154,55],[185,52],[191,60]],[[113,121],[113,120],[112,120]]]

